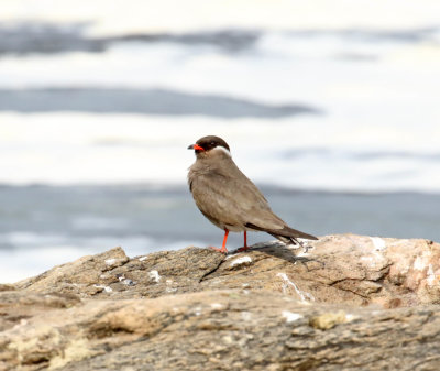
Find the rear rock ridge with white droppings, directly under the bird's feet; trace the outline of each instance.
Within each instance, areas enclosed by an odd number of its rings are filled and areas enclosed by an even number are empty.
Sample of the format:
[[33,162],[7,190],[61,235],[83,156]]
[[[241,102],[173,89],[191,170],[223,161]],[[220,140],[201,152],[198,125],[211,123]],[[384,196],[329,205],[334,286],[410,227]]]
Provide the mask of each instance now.
[[224,258],[187,248],[129,259],[121,248],[55,266],[16,290],[133,298],[207,290],[279,292],[305,302],[438,304],[440,245],[426,240],[327,236],[307,254],[277,242]]

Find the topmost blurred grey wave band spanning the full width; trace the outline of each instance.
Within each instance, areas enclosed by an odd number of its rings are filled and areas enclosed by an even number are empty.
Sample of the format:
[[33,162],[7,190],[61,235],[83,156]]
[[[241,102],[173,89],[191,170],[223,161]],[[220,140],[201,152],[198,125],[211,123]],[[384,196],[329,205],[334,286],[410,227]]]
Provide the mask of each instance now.
[[[182,33],[123,33],[113,36],[94,36],[87,30],[90,22],[82,23],[45,23],[14,22],[0,25],[0,55],[33,53],[66,53],[89,52],[100,53],[114,44],[136,42],[143,44],[182,44],[186,46],[207,45],[219,47],[226,53],[252,52],[262,45],[268,46],[268,41],[284,42],[285,48],[290,48],[295,42],[316,42],[320,39],[331,39],[344,42],[344,47],[366,43],[440,43],[440,26],[431,25],[414,29],[302,29],[285,31],[266,31],[257,29],[223,29],[204,30]],[[287,46],[287,47],[286,47]]]

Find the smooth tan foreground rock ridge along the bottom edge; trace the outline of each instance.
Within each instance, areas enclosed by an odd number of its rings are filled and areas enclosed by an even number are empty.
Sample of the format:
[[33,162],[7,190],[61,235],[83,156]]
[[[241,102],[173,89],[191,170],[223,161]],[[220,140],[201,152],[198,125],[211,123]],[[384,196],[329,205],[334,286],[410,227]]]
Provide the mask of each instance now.
[[228,290],[87,301],[35,316],[0,343],[4,370],[437,370],[439,331],[437,306],[341,312]]

